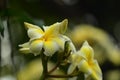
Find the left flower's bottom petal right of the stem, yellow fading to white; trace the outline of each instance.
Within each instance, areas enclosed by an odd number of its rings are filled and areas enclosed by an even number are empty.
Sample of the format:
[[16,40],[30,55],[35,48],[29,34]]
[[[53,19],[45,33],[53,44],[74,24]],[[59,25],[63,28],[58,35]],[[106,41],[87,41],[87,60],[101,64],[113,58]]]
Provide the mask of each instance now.
[[59,46],[54,41],[45,41],[44,42],[44,54],[46,56],[52,56],[56,51],[59,50]]

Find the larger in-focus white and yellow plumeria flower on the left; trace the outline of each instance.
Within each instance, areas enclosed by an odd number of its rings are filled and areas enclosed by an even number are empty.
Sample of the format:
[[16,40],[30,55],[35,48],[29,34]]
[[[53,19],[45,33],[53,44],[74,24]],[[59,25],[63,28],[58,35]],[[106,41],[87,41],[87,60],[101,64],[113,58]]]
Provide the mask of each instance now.
[[36,25],[25,22],[30,40],[19,45],[22,47],[20,51],[39,55],[41,50],[44,49],[46,56],[52,56],[56,51],[64,50],[65,41],[70,41],[67,36],[63,35],[67,29],[67,24],[68,20],[65,19],[60,23],[43,26],[43,29],[41,29]]

